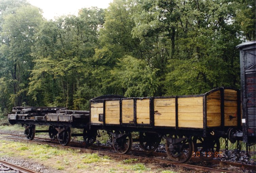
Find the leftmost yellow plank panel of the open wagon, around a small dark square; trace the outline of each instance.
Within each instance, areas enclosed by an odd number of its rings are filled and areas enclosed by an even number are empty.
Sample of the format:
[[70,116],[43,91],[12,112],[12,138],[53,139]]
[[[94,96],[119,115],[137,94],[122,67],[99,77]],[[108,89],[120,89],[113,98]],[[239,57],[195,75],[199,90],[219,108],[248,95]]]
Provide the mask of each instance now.
[[99,121],[99,114],[103,114],[103,103],[91,103],[91,123],[103,124]]

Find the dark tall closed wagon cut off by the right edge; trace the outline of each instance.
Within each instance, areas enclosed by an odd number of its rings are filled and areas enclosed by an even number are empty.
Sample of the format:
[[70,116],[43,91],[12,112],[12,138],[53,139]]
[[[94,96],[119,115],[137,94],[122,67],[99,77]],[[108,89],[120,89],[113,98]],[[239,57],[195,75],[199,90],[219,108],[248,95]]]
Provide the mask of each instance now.
[[[256,41],[242,43],[240,49],[243,141],[256,143]],[[238,136],[238,135],[236,135]],[[239,135],[241,136],[241,134]]]

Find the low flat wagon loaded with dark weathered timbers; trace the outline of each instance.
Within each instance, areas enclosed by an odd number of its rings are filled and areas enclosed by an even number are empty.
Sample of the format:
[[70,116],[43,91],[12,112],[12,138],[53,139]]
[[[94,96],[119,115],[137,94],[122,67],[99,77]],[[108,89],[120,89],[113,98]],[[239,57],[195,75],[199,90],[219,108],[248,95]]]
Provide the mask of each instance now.
[[[67,110],[66,107],[13,107],[12,112],[8,121],[25,126],[24,134],[28,140],[41,132],[48,132],[50,139],[58,139],[61,145],[68,145],[71,136],[83,136],[86,144],[96,139],[96,131],[91,133],[89,130],[89,111]],[[36,130],[36,125],[46,125],[49,129]],[[71,127],[84,129],[84,132],[71,134]]]

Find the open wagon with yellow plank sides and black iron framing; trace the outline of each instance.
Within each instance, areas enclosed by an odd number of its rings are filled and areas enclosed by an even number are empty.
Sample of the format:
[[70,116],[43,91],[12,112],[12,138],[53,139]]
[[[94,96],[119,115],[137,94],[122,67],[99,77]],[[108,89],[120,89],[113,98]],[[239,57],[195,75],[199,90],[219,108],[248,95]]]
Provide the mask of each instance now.
[[[108,130],[121,154],[129,152],[132,141],[153,151],[163,137],[175,162],[187,162],[198,148],[204,159],[211,159],[203,152],[218,151],[219,138],[227,138],[228,129],[241,130],[240,105],[240,90],[228,87],[186,96],[105,95],[90,100],[90,128]],[[132,139],[132,131],[140,132],[139,139]]]

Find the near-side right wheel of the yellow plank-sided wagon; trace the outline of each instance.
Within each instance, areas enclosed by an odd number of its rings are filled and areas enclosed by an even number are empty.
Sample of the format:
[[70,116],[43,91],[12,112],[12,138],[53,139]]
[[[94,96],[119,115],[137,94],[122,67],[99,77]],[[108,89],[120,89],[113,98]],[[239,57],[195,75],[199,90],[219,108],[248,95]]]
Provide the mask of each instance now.
[[[180,135],[169,135],[169,138],[184,138],[184,136]],[[194,150],[194,144],[191,139],[185,139],[176,144],[171,144],[166,140],[165,145],[167,155],[173,162],[176,163],[185,163],[188,162],[192,157],[192,151]]]

